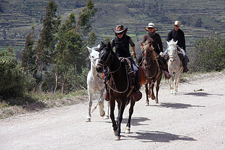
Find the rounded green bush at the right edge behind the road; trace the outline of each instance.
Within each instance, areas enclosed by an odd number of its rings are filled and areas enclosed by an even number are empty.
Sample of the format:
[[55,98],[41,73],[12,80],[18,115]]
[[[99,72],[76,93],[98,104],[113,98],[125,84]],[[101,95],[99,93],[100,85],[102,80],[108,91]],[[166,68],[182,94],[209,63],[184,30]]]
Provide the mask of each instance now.
[[221,71],[225,68],[225,42],[211,33],[195,42],[189,57],[191,72]]

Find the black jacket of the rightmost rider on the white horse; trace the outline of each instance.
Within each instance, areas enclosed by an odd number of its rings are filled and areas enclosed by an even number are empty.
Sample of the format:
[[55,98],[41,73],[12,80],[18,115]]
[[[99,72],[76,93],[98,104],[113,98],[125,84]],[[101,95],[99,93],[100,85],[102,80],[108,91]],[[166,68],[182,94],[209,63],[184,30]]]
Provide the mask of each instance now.
[[167,36],[167,41],[171,39],[178,41],[177,45],[186,50],[184,32],[181,29],[178,29],[178,31],[171,30]]

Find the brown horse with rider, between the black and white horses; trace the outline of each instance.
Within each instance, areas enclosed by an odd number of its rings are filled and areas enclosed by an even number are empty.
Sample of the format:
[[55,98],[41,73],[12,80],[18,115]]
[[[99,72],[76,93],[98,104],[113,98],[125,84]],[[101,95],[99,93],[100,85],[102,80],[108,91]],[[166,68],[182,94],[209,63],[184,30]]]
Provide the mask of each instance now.
[[[162,70],[159,67],[157,54],[154,51],[152,43],[141,44],[142,47],[142,67],[145,69],[146,84],[146,105],[149,105],[148,97],[158,103],[159,84],[162,79]],[[154,84],[156,83],[156,96],[154,93]]]

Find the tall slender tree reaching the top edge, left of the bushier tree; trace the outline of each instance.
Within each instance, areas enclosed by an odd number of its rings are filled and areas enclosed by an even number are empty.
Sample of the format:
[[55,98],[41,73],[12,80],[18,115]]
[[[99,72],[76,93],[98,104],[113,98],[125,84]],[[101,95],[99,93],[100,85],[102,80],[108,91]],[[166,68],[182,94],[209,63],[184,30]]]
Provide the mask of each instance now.
[[40,84],[39,89],[42,90],[42,84],[46,76],[43,74],[48,66],[53,62],[55,50],[55,34],[58,32],[60,25],[60,17],[56,15],[57,4],[50,0],[46,7],[46,14],[43,20],[43,28],[40,33],[40,38],[35,48],[36,53],[36,78]]

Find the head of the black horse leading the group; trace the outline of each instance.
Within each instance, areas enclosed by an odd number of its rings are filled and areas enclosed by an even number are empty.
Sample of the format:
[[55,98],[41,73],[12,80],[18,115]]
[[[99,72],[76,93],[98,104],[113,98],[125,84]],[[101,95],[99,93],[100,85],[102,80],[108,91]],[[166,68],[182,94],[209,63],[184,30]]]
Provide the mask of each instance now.
[[110,42],[108,42],[107,44],[101,42],[99,52],[100,54],[96,70],[97,72],[103,72],[104,68],[111,65],[113,59],[113,51]]

